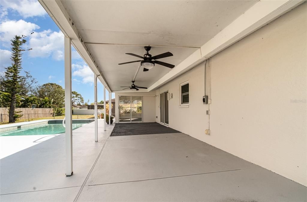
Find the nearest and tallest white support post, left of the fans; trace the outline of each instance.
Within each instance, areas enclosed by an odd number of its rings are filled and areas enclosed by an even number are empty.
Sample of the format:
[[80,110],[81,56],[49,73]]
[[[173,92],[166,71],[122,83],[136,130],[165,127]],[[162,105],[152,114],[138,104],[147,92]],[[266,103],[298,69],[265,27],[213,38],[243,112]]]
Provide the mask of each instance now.
[[65,72],[65,154],[66,176],[72,175],[72,49],[71,39],[64,39]]

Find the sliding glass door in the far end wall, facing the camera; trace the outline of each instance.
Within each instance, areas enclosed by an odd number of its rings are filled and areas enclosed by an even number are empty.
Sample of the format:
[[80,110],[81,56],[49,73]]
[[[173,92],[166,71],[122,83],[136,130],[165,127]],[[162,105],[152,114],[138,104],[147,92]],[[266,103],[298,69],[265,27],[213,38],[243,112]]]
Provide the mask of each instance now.
[[119,122],[142,122],[142,96],[119,96]]

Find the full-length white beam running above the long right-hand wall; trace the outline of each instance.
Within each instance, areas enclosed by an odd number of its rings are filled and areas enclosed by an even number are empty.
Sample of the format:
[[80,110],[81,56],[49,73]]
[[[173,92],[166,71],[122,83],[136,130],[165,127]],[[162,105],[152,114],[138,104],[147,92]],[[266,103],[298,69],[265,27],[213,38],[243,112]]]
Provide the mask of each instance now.
[[[148,92],[187,72],[200,62],[214,56],[243,37],[270,23],[306,0],[261,0],[243,13],[215,37],[178,64],[173,70],[148,88]],[[116,91],[122,92],[122,91]]]

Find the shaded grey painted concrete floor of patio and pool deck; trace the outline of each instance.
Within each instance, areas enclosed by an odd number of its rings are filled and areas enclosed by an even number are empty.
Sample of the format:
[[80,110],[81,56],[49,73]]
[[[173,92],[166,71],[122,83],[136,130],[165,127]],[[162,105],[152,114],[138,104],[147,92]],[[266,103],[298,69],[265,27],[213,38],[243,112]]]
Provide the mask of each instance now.
[[0,201],[307,200],[305,186],[186,134],[109,137],[102,121],[98,142],[93,122],[73,130],[71,177],[64,134],[2,158]]

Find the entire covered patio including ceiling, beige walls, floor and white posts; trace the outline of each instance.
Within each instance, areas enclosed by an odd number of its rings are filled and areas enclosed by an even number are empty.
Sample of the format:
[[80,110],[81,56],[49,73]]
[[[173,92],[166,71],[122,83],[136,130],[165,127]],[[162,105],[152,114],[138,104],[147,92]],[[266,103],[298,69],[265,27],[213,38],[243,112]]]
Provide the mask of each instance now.
[[[305,0],[38,1],[65,35],[66,128],[1,159],[1,201],[307,200]],[[72,45],[95,92],[73,131]]]

